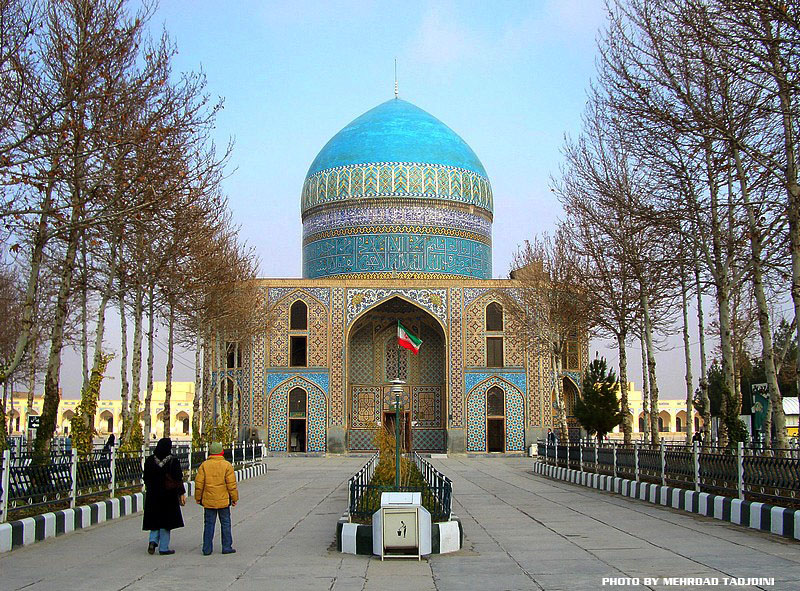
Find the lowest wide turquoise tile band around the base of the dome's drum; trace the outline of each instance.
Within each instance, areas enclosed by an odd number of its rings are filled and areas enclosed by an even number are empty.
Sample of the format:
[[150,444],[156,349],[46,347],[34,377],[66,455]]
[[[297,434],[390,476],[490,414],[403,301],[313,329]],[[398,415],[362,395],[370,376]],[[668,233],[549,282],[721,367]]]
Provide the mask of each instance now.
[[303,246],[303,277],[422,273],[491,279],[491,246],[455,236],[379,233],[314,240]]

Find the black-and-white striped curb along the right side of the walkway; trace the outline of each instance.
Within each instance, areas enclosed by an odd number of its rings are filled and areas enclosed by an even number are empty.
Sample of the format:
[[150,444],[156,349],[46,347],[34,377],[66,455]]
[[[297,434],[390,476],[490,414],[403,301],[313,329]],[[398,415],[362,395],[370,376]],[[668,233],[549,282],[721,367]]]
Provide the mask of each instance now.
[[534,474],[800,540],[800,510],[534,462]]

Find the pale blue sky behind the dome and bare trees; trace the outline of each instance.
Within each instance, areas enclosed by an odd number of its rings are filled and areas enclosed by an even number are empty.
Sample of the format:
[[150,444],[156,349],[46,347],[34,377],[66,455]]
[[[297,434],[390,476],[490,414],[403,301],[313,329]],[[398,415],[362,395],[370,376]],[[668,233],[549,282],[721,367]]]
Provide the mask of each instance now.
[[[177,45],[175,75],[202,69],[209,94],[224,99],[215,141],[234,141],[224,189],[242,238],[261,256],[261,276],[300,277],[308,167],[342,127],[394,96],[396,59],[400,97],[451,127],[486,168],[493,275],[506,277],[518,246],[562,215],[551,179],[565,134],[580,130],[604,18],[601,0],[162,0],[151,28]],[[160,347],[156,379],[164,376]],[[604,343],[592,343],[596,350],[616,364]],[[682,353],[663,356],[680,368],[659,372],[674,383],[668,397],[678,398]],[[80,372],[68,357],[62,385],[73,397]],[[174,379],[193,380],[193,364],[193,353],[180,352]],[[112,362],[108,375],[118,374]],[[104,396],[118,390],[118,378],[104,382]]]

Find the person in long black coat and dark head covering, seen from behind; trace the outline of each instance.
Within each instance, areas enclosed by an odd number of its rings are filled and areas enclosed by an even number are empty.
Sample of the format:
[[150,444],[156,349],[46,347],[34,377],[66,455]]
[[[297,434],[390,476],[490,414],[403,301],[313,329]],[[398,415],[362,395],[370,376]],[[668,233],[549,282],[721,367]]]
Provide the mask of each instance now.
[[144,518],[142,529],[150,531],[148,554],[175,554],[170,550],[170,532],[183,527],[181,506],[186,504],[181,463],[172,455],[172,440],[158,441],[153,455],[144,462]]

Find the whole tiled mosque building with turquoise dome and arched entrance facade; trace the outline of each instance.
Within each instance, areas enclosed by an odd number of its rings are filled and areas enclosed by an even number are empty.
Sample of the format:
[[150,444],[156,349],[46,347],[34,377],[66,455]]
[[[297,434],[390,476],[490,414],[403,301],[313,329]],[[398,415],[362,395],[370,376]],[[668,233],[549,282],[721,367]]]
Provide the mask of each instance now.
[[259,280],[271,324],[226,370],[242,433],[272,452],[372,450],[395,380],[404,444],[422,452],[522,452],[553,424],[556,379],[571,414],[587,340],[555,376],[515,337],[488,175],[441,121],[397,98],[352,121],[311,164],[301,215],[303,278]]

